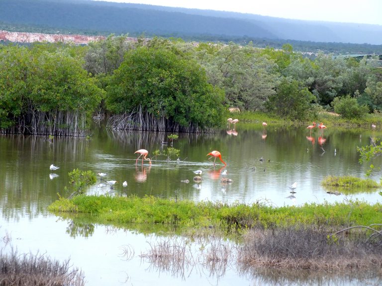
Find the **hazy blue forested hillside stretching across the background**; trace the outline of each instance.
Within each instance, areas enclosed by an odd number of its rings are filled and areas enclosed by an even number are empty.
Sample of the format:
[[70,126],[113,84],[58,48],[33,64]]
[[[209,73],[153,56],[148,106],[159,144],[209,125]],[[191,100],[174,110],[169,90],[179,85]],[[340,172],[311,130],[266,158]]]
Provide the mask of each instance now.
[[[382,26],[92,0],[0,0],[0,29],[85,35],[177,37],[302,52],[382,54]],[[346,43],[346,44],[344,44]],[[354,45],[349,45],[353,43]]]

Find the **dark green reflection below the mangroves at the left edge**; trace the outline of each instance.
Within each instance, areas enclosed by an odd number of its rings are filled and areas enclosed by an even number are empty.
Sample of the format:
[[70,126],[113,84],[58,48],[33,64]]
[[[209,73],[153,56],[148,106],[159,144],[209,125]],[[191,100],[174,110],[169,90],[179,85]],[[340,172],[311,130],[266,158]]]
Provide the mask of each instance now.
[[41,158],[50,156],[60,161],[85,161],[87,140],[78,137],[54,138],[42,136],[4,136],[0,143],[0,204],[4,217],[46,212],[46,207],[57,199],[57,192],[50,190],[49,165],[44,178],[39,166]]

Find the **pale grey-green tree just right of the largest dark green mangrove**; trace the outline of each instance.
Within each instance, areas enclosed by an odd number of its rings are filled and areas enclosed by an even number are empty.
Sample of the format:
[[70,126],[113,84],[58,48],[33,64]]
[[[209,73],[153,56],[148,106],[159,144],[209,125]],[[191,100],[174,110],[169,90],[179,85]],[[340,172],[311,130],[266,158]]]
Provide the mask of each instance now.
[[265,110],[264,103],[275,94],[279,75],[273,60],[251,46],[202,45],[196,57],[209,82],[225,91],[225,104],[242,110]]

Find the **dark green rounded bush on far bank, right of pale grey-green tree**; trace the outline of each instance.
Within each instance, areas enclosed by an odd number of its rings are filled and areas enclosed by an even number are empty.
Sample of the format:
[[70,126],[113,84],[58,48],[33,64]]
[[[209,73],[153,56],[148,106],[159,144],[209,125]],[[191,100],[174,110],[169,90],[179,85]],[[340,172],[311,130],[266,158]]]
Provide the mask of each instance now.
[[277,93],[269,98],[267,108],[282,117],[303,120],[311,114],[314,99],[314,95],[298,81],[284,78]]

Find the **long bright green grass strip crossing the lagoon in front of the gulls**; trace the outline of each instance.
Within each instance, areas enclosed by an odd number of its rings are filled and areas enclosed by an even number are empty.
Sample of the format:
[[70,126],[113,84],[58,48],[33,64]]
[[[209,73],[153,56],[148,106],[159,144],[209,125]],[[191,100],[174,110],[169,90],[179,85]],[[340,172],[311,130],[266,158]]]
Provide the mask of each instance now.
[[227,227],[247,229],[273,228],[308,224],[340,229],[353,225],[370,225],[382,221],[382,205],[364,202],[305,204],[301,207],[273,208],[262,204],[192,202],[160,199],[85,196],[52,203],[51,212],[92,214],[98,223],[150,223],[182,227]]

